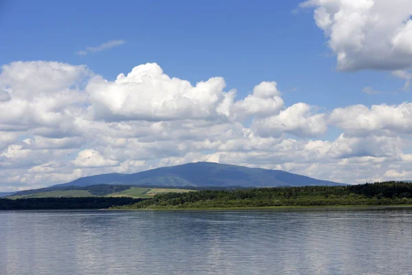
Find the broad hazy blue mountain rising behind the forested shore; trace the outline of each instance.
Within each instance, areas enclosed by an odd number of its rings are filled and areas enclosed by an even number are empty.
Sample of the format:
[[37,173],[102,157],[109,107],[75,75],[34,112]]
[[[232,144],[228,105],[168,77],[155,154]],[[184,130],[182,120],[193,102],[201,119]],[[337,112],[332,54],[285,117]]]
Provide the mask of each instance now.
[[57,186],[130,184],[140,186],[336,186],[333,181],[313,179],[282,170],[196,162],[147,170],[135,174],[103,174],[81,177]]

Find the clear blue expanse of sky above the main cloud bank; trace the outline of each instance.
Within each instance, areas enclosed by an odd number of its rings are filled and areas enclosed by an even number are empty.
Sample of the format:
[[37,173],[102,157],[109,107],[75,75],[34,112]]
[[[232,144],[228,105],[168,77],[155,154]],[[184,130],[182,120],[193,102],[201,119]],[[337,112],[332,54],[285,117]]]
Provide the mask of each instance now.
[[[170,76],[196,83],[222,76],[244,96],[256,83],[275,80],[288,104],[327,109],[348,104],[399,104],[388,72],[336,72],[335,56],[310,10],[300,1],[5,1],[1,7],[0,63],[61,61],[86,64],[113,80],[135,65],[156,62]],[[105,41],[126,43],[79,56]],[[296,91],[293,91],[296,88]]]

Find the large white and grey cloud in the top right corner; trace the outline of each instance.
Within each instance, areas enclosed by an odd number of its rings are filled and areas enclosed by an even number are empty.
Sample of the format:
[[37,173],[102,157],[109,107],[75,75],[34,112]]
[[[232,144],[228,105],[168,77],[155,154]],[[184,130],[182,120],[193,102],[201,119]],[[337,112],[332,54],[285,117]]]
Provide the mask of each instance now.
[[314,20],[336,54],[337,69],[406,69],[412,66],[412,1],[309,0]]

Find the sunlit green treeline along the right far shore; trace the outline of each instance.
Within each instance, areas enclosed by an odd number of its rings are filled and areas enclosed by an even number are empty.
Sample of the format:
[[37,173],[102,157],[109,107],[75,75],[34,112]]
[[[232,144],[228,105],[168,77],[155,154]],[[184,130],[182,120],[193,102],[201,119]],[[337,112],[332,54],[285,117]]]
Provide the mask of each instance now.
[[242,208],[266,206],[412,205],[412,184],[304,186],[166,193],[122,208]]

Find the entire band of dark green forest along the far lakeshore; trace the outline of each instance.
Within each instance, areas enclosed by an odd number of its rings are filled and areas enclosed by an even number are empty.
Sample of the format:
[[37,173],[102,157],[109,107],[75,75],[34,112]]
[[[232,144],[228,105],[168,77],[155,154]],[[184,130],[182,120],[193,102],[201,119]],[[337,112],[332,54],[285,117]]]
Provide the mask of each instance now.
[[[94,195],[130,186],[87,186]],[[152,199],[131,197],[45,197],[0,199],[0,210],[46,209],[210,209],[275,206],[394,206],[412,205],[412,184],[386,181],[350,186],[225,188],[168,192]]]

